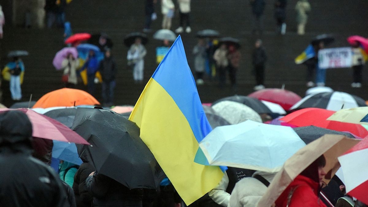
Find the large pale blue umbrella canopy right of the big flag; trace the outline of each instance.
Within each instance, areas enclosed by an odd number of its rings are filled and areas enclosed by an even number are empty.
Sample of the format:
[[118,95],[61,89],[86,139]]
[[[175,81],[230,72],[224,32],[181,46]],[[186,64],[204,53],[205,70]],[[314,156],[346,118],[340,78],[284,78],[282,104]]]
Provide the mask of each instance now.
[[305,143],[293,129],[247,120],[220,126],[200,143],[210,165],[274,173]]

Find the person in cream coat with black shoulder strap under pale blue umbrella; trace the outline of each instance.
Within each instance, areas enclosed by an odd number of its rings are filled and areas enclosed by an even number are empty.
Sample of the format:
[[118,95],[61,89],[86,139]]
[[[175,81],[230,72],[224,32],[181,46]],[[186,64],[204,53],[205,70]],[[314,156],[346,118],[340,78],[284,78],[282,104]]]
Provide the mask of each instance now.
[[[256,171],[252,178],[244,178],[236,183],[230,196],[230,207],[254,207],[257,206],[263,194],[265,194],[266,184],[272,182],[276,173]],[[256,177],[256,178],[255,178]],[[261,178],[259,178],[261,177]],[[261,182],[262,180],[262,182]]]

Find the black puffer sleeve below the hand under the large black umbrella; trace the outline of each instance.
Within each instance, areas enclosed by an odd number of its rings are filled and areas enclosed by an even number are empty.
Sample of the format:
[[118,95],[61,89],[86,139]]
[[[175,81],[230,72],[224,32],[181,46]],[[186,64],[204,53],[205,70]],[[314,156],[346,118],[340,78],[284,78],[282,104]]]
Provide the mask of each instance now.
[[86,187],[93,197],[103,198],[109,190],[110,180],[104,179],[103,175],[97,173],[88,176],[86,179]]

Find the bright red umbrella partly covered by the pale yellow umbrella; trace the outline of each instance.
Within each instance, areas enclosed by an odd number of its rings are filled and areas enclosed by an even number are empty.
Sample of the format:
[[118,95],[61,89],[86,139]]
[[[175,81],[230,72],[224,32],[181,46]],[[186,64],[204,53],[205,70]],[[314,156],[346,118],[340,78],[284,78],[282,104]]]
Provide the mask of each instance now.
[[332,116],[333,113],[335,113],[335,111],[327,109],[306,108],[290,113],[280,120],[298,127],[318,126],[325,129],[349,132],[362,138],[368,136],[368,131],[360,124],[326,120],[328,117]]

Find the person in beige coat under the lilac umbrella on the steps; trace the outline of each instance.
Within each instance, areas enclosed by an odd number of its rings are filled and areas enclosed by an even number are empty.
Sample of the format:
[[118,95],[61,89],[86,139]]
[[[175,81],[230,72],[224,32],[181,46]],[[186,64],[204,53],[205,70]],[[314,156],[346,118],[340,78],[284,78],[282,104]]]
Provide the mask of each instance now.
[[66,59],[61,63],[64,69],[63,76],[68,76],[68,80],[65,83],[66,88],[75,88],[78,83],[77,79],[77,67],[79,66],[79,60],[75,59],[72,54],[69,54]]

